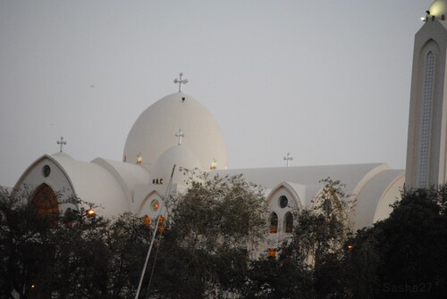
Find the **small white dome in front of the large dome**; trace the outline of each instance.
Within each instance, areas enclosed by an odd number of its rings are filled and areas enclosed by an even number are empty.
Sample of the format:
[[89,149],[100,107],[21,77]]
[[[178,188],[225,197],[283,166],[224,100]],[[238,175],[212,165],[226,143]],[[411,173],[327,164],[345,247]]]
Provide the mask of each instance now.
[[151,175],[154,179],[163,179],[167,183],[176,165],[173,174],[173,184],[183,184],[185,177],[180,169],[203,170],[200,161],[195,154],[192,154],[184,145],[175,145],[162,154],[152,168]]

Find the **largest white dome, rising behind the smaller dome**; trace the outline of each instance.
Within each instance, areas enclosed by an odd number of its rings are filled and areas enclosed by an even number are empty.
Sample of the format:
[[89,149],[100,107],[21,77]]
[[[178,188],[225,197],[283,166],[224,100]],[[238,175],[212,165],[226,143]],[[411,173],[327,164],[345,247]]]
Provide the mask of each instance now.
[[139,115],[124,146],[124,162],[136,163],[141,153],[142,165],[152,170],[158,157],[178,144],[175,134],[184,133],[182,144],[198,157],[201,167],[217,169],[227,165],[223,134],[213,115],[192,96],[178,92],[164,96]]

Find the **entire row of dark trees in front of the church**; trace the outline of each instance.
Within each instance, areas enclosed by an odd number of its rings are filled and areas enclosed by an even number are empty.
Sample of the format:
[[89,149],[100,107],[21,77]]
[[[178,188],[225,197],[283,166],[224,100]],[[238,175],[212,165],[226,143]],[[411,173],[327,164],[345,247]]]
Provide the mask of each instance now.
[[[168,203],[140,298],[443,298],[447,186],[404,190],[386,220],[350,232],[355,200],[323,180],[294,214],[278,257],[265,249],[262,188],[240,176],[191,175]],[[45,217],[29,196],[0,192],[0,298],[131,298],[154,226],[131,214]],[[152,275],[154,273],[154,275]]]

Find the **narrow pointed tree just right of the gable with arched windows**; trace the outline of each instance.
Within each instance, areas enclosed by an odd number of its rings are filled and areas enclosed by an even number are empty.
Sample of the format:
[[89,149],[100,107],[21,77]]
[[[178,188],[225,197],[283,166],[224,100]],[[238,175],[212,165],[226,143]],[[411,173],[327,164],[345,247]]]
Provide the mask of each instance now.
[[355,204],[340,180],[323,179],[321,194],[310,209],[296,212],[293,235],[283,246],[296,267],[311,273],[317,298],[344,293],[342,258],[350,236],[350,212]]

